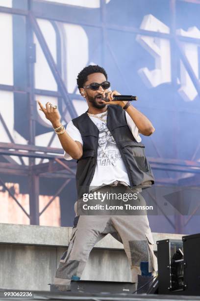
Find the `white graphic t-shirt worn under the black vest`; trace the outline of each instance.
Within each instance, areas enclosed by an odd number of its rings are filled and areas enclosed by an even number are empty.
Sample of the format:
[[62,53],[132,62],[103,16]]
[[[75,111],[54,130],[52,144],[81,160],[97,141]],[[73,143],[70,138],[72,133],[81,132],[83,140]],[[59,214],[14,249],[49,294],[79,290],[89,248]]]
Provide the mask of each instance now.
[[[97,116],[101,116],[103,114],[105,114],[105,112],[97,114]],[[125,112],[125,116],[128,127],[131,130],[135,140],[137,142],[141,142],[141,137],[134,121],[131,119],[127,112]],[[90,119],[96,124],[99,129],[97,165],[92,182],[90,184],[90,188],[91,186],[110,184],[116,180],[123,181],[127,185],[130,185],[121,153],[116,145],[113,136],[107,128],[106,118],[107,115],[102,118],[103,120],[105,120],[104,122],[96,117],[90,117]],[[79,141],[83,145],[81,134],[77,127],[75,127],[75,125],[73,124],[73,121],[70,121],[67,124],[66,131],[73,140]],[[66,160],[72,160],[72,157],[66,152],[64,152],[64,158]]]

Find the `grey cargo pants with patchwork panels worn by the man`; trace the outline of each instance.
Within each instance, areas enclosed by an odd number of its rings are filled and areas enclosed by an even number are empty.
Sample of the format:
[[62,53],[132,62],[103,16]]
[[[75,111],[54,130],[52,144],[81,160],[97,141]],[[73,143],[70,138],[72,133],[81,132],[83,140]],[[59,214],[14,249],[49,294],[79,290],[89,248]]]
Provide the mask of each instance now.
[[[110,191],[116,191],[117,187],[110,186]],[[134,193],[135,191],[137,190],[126,187],[126,192]],[[146,204],[141,195],[140,200],[143,205]],[[132,282],[138,281],[137,275],[141,274],[141,262],[149,262],[149,272],[155,275],[157,259],[153,253],[154,242],[147,214],[80,215],[77,225],[73,227],[68,250],[60,259],[54,284],[69,286],[72,279],[78,280],[93,246],[108,233],[124,244],[130,263]]]

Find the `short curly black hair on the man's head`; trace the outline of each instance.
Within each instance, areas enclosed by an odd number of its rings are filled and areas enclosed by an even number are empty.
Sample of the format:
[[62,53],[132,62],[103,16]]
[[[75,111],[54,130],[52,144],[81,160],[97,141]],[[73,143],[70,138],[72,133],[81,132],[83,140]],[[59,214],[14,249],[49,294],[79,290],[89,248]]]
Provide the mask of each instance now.
[[87,82],[87,76],[92,74],[92,73],[102,73],[102,74],[105,75],[106,81],[108,79],[108,76],[107,76],[107,73],[105,72],[105,69],[103,69],[99,65],[89,65],[89,66],[83,68],[83,70],[81,70],[78,73],[78,76],[77,76],[77,79],[76,79],[78,89],[83,88],[85,82]]

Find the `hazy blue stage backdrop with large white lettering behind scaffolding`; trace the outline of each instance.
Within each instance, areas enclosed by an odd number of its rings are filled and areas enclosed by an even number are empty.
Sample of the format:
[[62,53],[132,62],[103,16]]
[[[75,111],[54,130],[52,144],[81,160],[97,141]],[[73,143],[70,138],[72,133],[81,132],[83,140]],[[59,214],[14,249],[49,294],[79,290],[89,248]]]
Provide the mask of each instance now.
[[[150,137],[142,136],[146,154],[163,160],[163,164],[169,162],[167,159],[172,163],[180,162],[180,165],[185,160],[198,164],[200,1],[33,0],[30,7],[26,0],[0,0],[0,6],[23,11],[30,9],[36,16],[77,115],[87,110],[76,87],[77,74],[86,65],[99,64],[108,74],[111,89],[137,95],[138,101],[133,105],[152,121],[155,132]],[[35,120],[35,145],[61,148],[56,136],[51,141],[51,124],[39,111],[36,100],[57,104],[64,112],[65,125],[72,115],[65,110],[66,102],[35,31],[31,37],[32,48],[27,51],[27,26],[30,25],[25,18],[25,15],[0,10],[0,142],[27,145],[30,113]],[[27,61],[30,60],[33,62],[31,81],[35,101],[31,112],[27,90]],[[9,158],[10,161],[5,155],[1,156],[1,162],[22,165],[18,156]],[[28,166],[28,157],[23,157],[23,161]],[[43,160],[45,162],[49,160]],[[37,158],[36,164],[39,163],[41,159]],[[189,198],[199,195],[198,168],[194,172],[187,166],[181,171],[155,168],[153,172],[158,186],[171,185],[179,190],[182,185],[193,185]],[[3,172],[0,175],[7,187],[13,187],[13,195],[29,212],[25,177]],[[59,179],[41,179],[40,211],[50,201],[59,183]],[[5,187],[0,187],[0,222],[29,224],[23,211],[17,213],[21,209],[9,197]],[[40,216],[40,224],[71,225],[75,199],[75,181],[72,179],[70,187],[67,185],[54,198],[49,213]],[[157,197],[156,201],[167,202],[161,199]],[[199,200],[195,206],[198,204]],[[198,232],[196,207],[178,221],[174,215],[150,216],[151,228],[154,232]],[[194,211],[196,215],[190,216],[189,213]]]

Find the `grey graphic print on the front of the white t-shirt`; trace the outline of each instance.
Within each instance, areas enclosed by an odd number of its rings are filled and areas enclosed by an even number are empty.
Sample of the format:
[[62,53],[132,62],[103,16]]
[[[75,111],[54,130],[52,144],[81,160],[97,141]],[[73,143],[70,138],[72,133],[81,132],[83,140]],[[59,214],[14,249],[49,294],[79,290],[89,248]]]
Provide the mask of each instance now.
[[104,122],[98,122],[96,125],[99,129],[97,162],[100,166],[116,166],[116,161],[122,160],[116,142]]

